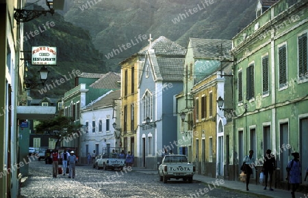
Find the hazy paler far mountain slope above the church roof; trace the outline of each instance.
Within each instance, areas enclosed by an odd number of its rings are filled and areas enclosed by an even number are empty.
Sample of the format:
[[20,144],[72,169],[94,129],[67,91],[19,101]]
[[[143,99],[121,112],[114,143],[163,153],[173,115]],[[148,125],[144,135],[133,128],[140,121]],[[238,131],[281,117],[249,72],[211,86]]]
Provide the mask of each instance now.
[[[256,0],[77,0],[70,3],[65,20],[87,29],[103,61],[118,62],[165,36],[182,46],[188,38],[231,39],[255,18]],[[147,39],[131,48],[139,35]]]

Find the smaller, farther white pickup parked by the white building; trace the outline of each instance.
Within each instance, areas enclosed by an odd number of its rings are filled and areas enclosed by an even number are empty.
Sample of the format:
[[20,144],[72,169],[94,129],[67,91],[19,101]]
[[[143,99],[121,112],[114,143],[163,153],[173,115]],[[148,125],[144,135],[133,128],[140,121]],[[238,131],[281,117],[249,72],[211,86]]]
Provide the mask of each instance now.
[[93,168],[120,169],[123,170],[125,166],[125,158],[120,158],[118,154],[99,154],[93,163]]

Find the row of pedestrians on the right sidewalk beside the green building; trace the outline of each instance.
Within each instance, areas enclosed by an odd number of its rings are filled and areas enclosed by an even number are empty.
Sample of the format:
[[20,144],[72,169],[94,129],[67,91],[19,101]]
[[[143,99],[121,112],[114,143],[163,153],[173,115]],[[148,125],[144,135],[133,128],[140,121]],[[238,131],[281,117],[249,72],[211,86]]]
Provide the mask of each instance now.
[[[295,197],[294,193],[296,189],[298,188],[300,184],[300,160],[299,160],[299,153],[294,152],[292,153],[292,156],[294,159],[290,160],[287,164],[287,180],[291,184],[291,194],[292,198]],[[248,184],[249,180],[251,178],[251,174],[253,173],[253,169],[255,168],[255,158],[253,158],[253,150],[249,151],[249,154],[244,157],[243,160],[243,165],[242,165],[242,171],[246,173],[246,190],[249,190]],[[272,188],[272,175],[274,173],[274,170],[276,169],[276,160],[274,157],[274,154],[272,154],[272,150],[266,150],[266,154],[264,156],[264,162],[263,162],[263,167],[262,167],[262,172],[264,173],[265,176],[265,186],[264,190],[268,188],[269,184],[269,190],[274,190]],[[306,169],[306,176],[305,176],[305,181],[307,180],[307,175],[308,175],[308,167]],[[270,181],[268,182],[268,178],[270,178]]]

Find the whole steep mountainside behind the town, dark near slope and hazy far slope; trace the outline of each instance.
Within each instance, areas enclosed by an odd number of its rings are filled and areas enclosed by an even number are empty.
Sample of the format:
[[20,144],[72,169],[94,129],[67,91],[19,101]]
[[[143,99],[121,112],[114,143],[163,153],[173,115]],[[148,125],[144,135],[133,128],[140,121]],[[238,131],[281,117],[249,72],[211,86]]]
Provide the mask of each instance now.
[[[36,10],[42,8],[35,3],[45,4],[44,0],[29,2]],[[31,89],[30,95],[61,97],[73,88],[73,78],[52,89],[47,85],[73,70],[118,72],[120,61],[149,44],[150,33],[153,40],[165,36],[184,47],[188,38],[231,39],[254,20],[256,4],[256,0],[66,0],[64,10],[24,24],[25,51],[31,51],[31,46],[57,46],[58,55],[57,66],[48,67],[45,86]],[[55,25],[30,36],[47,21]],[[25,58],[30,57],[25,53]],[[38,81],[40,68],[28,69],[28,78]]]

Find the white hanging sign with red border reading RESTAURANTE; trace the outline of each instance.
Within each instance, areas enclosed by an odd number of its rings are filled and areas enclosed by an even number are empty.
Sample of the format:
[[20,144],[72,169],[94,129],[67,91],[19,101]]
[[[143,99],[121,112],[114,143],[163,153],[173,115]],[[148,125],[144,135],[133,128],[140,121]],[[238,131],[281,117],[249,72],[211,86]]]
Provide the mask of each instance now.
[[57,64],[57,47],[32,46],[31,64],[39,66],[55,66]]

